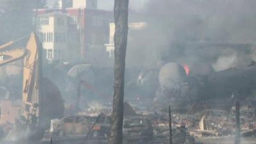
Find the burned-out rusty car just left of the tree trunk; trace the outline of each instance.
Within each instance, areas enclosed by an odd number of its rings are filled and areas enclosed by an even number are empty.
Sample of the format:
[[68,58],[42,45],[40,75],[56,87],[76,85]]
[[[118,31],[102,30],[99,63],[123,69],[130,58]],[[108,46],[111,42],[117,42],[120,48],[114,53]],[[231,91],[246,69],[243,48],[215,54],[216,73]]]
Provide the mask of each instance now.
[[104,114],[99,116],[76,115],[62,118],[52,125],[55,136],[85,136],[99,138],[109,136],[111,118]]

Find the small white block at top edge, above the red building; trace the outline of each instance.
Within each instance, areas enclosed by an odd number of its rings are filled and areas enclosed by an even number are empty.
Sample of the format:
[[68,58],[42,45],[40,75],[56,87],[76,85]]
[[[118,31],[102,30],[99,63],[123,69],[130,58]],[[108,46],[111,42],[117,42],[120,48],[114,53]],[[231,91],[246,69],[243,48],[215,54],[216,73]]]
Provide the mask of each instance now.
[[86,8],[96,10],[98,7],[97,0],[73,0],[72,8]]

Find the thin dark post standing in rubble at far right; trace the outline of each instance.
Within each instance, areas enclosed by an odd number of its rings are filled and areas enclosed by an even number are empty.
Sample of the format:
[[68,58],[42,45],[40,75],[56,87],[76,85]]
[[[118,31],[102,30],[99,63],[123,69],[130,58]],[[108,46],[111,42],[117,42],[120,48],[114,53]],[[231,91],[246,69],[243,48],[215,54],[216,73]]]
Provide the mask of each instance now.
[[240,140],[240,104],[236,102],[236,141],[235,144],[241,144]]

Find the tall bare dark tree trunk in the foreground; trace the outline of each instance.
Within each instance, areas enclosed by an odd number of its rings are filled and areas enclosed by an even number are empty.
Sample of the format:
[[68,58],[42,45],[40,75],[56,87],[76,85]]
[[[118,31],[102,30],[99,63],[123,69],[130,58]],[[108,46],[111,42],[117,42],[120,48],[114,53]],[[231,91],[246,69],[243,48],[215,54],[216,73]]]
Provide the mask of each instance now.
[[129,0],[115,0],[115,81],[111,144],[122,144],[124,116],[124,74],[128,34]]

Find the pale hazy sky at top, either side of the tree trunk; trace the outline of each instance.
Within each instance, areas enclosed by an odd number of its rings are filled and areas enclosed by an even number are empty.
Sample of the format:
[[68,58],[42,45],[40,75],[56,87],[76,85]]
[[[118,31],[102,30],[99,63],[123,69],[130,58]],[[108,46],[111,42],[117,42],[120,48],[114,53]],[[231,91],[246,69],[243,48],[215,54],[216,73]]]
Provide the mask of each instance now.
[[[143,8],[143,4],[149,0],[130,0],[132,9]],[[98,8],[104,10],[113,10],[114,0],[98,0]]]

